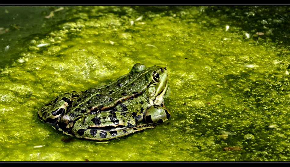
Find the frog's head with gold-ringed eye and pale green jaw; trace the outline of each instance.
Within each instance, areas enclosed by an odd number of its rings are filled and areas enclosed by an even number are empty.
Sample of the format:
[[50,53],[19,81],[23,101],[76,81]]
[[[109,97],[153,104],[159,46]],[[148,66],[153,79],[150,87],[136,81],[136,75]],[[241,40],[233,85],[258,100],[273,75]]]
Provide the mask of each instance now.
[[151,106],[163,104],[163,99],[169,93],[168,71],[166,67],[152,66],[147,68],[144,64],[137,63],[133,66],[132,72],[146,73],[149,104]]

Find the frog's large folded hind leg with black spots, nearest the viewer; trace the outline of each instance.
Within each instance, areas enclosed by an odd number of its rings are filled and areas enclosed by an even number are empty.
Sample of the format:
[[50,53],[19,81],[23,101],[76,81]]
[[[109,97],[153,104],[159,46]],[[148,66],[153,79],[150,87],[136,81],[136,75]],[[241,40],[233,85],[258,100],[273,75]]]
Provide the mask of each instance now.
[[150,124],[136,126],[132,115],[123,111],[102,111],[80,116],[77,119],[72,127],[72,133],[78,138],[89,140],[110,140],[143,129],[154,128]]

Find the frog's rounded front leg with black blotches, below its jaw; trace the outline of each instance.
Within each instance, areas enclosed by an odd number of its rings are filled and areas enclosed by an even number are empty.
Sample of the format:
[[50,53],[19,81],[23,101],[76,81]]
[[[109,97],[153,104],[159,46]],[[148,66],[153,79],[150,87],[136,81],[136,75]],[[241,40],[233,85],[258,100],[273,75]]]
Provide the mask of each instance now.
[[149,107],[143,116],[148,123],[161,124],[170,118],[171,112],[163,104]]

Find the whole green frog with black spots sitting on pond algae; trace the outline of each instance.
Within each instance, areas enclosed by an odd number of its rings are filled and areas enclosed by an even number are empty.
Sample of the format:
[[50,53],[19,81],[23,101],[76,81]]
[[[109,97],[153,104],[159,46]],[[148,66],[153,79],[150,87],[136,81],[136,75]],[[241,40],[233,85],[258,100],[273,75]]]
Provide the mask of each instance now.
[[170,86],[167,67],[136,63],[109,84],[63,93],[38,110],[38,118],[64,134],[107,141],[155,128],[171,111],[164,105]]

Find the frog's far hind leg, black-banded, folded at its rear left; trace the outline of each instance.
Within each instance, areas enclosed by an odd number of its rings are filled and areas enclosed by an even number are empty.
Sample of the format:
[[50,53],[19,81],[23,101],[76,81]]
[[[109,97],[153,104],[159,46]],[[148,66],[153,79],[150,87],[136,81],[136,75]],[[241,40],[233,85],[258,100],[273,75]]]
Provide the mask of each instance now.
[[57,96],[54,100],[38,110],[40,120],[53,124],[63,115],[65,107],[79,97],[80,93],[72,91]]

